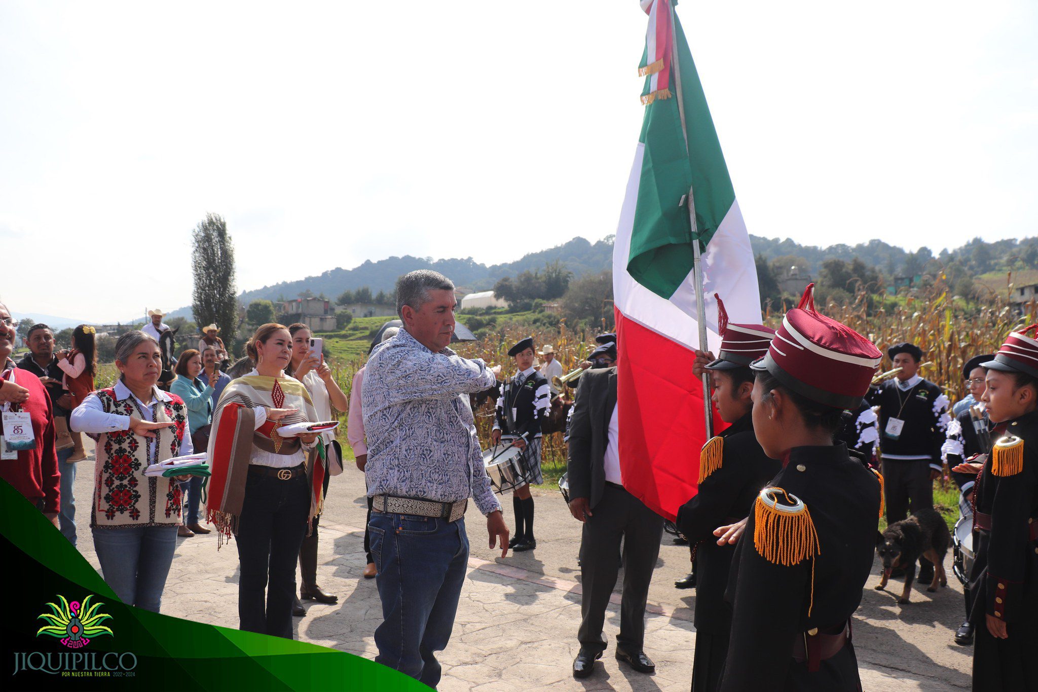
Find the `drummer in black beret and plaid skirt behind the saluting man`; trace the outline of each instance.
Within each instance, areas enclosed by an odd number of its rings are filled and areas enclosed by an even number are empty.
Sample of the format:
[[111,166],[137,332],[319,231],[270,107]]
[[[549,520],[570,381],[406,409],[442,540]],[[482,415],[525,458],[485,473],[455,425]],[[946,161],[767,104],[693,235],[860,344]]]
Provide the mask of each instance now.
[[534,537],[534,495],[530,485],[544,482],[541,473],[541,425],[551,409],[551,387],[548,380],[534,367],[534,338],[520,340],[509,350],[515,359],[516,375],[500,385],[497,397],[497,415],[490,433],[490,443],[512,442],[522,449],[519,463],[525,472],[525,481],[512,494],[512,508],[516,513],[516,532],[509,548],[517,553],[537,548]]

